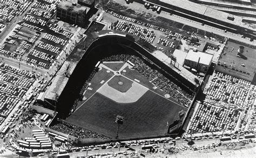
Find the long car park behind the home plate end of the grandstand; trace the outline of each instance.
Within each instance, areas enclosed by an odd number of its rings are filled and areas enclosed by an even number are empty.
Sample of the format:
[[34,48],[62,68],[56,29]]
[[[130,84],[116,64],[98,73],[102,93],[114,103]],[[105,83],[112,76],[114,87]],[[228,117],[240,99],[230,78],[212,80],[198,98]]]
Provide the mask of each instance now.
[[146,39],[147,42],[167,55],[172,54],[177,49],[180,39],[184,37],[178,32],[143,23],[130,17],[118,15],[118,13],[112,11],[104,12],[100,20],[107,24],[112,23],[112,29],[126,31]]

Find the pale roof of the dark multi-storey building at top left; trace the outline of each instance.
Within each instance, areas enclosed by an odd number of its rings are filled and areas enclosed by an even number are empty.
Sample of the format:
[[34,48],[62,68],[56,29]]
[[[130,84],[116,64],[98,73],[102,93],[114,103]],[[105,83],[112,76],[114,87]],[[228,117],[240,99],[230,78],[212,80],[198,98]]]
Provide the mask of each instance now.
[[58,8],[64,9],[64,10],[72,10],[72,12],[75,13],[82,13],[84,11],[89,11],[90,8],[87,6],[83,6],[80,4],[73,5],[71,2],[63,1],[58,4]]

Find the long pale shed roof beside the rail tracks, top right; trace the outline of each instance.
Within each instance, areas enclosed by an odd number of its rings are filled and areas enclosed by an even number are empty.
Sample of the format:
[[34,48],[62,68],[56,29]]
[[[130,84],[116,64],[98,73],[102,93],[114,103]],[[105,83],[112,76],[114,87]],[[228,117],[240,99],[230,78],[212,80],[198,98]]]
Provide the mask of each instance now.
[[[243,28],[248,28],[248,29],[254,30],[253,28],[251,28],[250,25],[242,22],[242,17],[231,15],[230,13],[226,13],[223,11],[215,10],[215,9],[212,9],[212,8],[204,6],[204,5],[200,5],[200,4],[190,2],[187,0],[172,0],[172,1],[159,0],[159,1],[173,5],[173,6],[177,6],[178,8],[183,8],[185,10],[196,12],[201,15],[211,17],[211,18],[214,18],[214,19],[226,22],[226,23],[230,23],[230,24],[238,25]],[[229,20],[228,17],[233,17],[234,20]]]

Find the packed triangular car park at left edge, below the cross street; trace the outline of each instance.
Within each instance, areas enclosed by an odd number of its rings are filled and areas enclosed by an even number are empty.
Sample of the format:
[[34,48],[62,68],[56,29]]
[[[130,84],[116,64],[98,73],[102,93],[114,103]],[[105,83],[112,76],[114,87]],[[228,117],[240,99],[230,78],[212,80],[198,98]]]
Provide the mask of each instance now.
[[[29,90],[29,87],[35,82],[35,76],[29,72],[23,70],[17,70],[8,65],[1,64],[1,95],[4,97],[1,98],[1,117],[0,117],[0,126],[4,122],[5,118],[11,113],[19,101],[23,98],[26,91]],[[19,103],[21,106],[22,102]],[[24,108],[24,106],[23,106]],[[18,111],[21,112],[22,109]],[[16,112],[17,115],[19,112]],[[11,117],[12,118],[12,117]],[[15,119],[10,119],[6,122],[6,125],[12,125]]]

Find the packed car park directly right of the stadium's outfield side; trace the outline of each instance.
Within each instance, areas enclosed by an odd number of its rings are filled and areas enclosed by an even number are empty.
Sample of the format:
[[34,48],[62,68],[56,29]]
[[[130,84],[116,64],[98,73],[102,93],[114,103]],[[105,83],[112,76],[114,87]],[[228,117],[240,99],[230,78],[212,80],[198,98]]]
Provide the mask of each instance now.
[[[244,130],[246,114],[253,104],[254,85],[248,81],[215,72],[207,84],[206,97],[199,105],[188,132]],[[240,124],[241,123],[241,124]],[[244,124],[245,125],[245,124]]]

